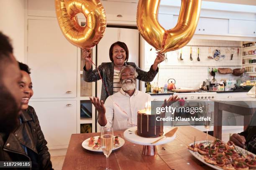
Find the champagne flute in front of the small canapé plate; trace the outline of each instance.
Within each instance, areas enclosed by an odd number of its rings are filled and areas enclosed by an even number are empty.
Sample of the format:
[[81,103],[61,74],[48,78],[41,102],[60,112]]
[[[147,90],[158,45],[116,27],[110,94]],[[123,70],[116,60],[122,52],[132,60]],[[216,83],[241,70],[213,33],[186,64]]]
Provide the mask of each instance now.
[[106,169],[110,170],[108,168],[108,157],[110,153],[112,152],[112,149],[114,148],[114,133],[113,128],[106,127],[101,129],[101,148],[106,156]]

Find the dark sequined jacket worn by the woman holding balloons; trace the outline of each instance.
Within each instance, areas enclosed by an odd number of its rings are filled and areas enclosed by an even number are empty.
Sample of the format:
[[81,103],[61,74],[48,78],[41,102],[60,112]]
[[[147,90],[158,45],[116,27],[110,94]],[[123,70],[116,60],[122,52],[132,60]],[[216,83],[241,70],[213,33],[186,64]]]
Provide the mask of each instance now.
[[[148,72],[143,71],[139,67],[137,67],[134,62],[125,62],[125,65],[133,66],[136,69],[136,72],[138,73],[137,79],[144,82],[153,81],[154,77],[158,72],[158,68],[155,71],[153,70],[152,66],[150,67],[150,70]],[[100,75],[102,76],[102,80],[108,90],[107,92],[105,90],[104,85],[102,84],[100,100],[103,100],[103,102],[105,102],[105,100],[109,95],[113,95],[114,62],[102,62],[102,64],[98,66],[98,69],[99,69]],[[97,80],[100,80],[100,75],[97,69],[92,70],[91,68],[90,70],[86,71],[86,68],[84,66],[84,70],[83,70],[84,81],[96,82]]]

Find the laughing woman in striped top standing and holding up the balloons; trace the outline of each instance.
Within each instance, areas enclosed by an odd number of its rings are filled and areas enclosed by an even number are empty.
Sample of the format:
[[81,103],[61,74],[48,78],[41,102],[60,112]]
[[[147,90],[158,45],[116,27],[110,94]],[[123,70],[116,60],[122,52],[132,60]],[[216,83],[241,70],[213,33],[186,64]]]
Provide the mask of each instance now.
[[100,100],[105,100],[109,95],[118,92],[121,88],[118,77],[119,71],[125,65],[131,65],[138,72],[138,80],[151,82],[154,80],[158,72],[157,65],[164,61],[164,55],[157,53],[154,64],[151,65],[148,72],[141,70],[134,62],[127,62],[129,58],[129,50],[124,42],[115,42],[110,46],[109,57],[111,62],[105,62],[98,66],[98,69],[92,70],[92,62],[89,52],[83,50],[83,58],[85,59],[85,66],[83,71],[84,80],[87,82],[100,80],[102,77],[102,88]]

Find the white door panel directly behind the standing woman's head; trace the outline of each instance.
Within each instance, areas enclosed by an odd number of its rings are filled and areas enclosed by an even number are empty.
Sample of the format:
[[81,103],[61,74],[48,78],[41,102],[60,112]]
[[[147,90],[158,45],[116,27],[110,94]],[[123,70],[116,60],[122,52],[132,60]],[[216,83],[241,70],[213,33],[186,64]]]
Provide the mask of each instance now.
[[[128,62],[135,62],[138,66],[139,32],[128,28],[106,28],[105,35],[97,45],[97,65],[102,62],[111,62],[109,58],[110,45],[116,41],[125,42],[129,50]],[[102,81],[97,81],[97,97],[101,95]]]

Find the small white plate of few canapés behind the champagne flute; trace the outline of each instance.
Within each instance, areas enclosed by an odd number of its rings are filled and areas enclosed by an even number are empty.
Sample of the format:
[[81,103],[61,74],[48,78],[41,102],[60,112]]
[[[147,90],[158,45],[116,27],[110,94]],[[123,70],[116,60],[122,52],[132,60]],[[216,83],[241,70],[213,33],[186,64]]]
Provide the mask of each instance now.
[[[95,151],[95,152],[103,152],[101,148],[101,138],[100,136],[92,136],[90,138],[87,138],[82,142],[82,147],[84,149]],[[113,142],[113,150],[116,150],[120,147],[122,147],[125,143],[125,140],[123,138],[120,138],[118,136],[114,136],[114,142]]]

